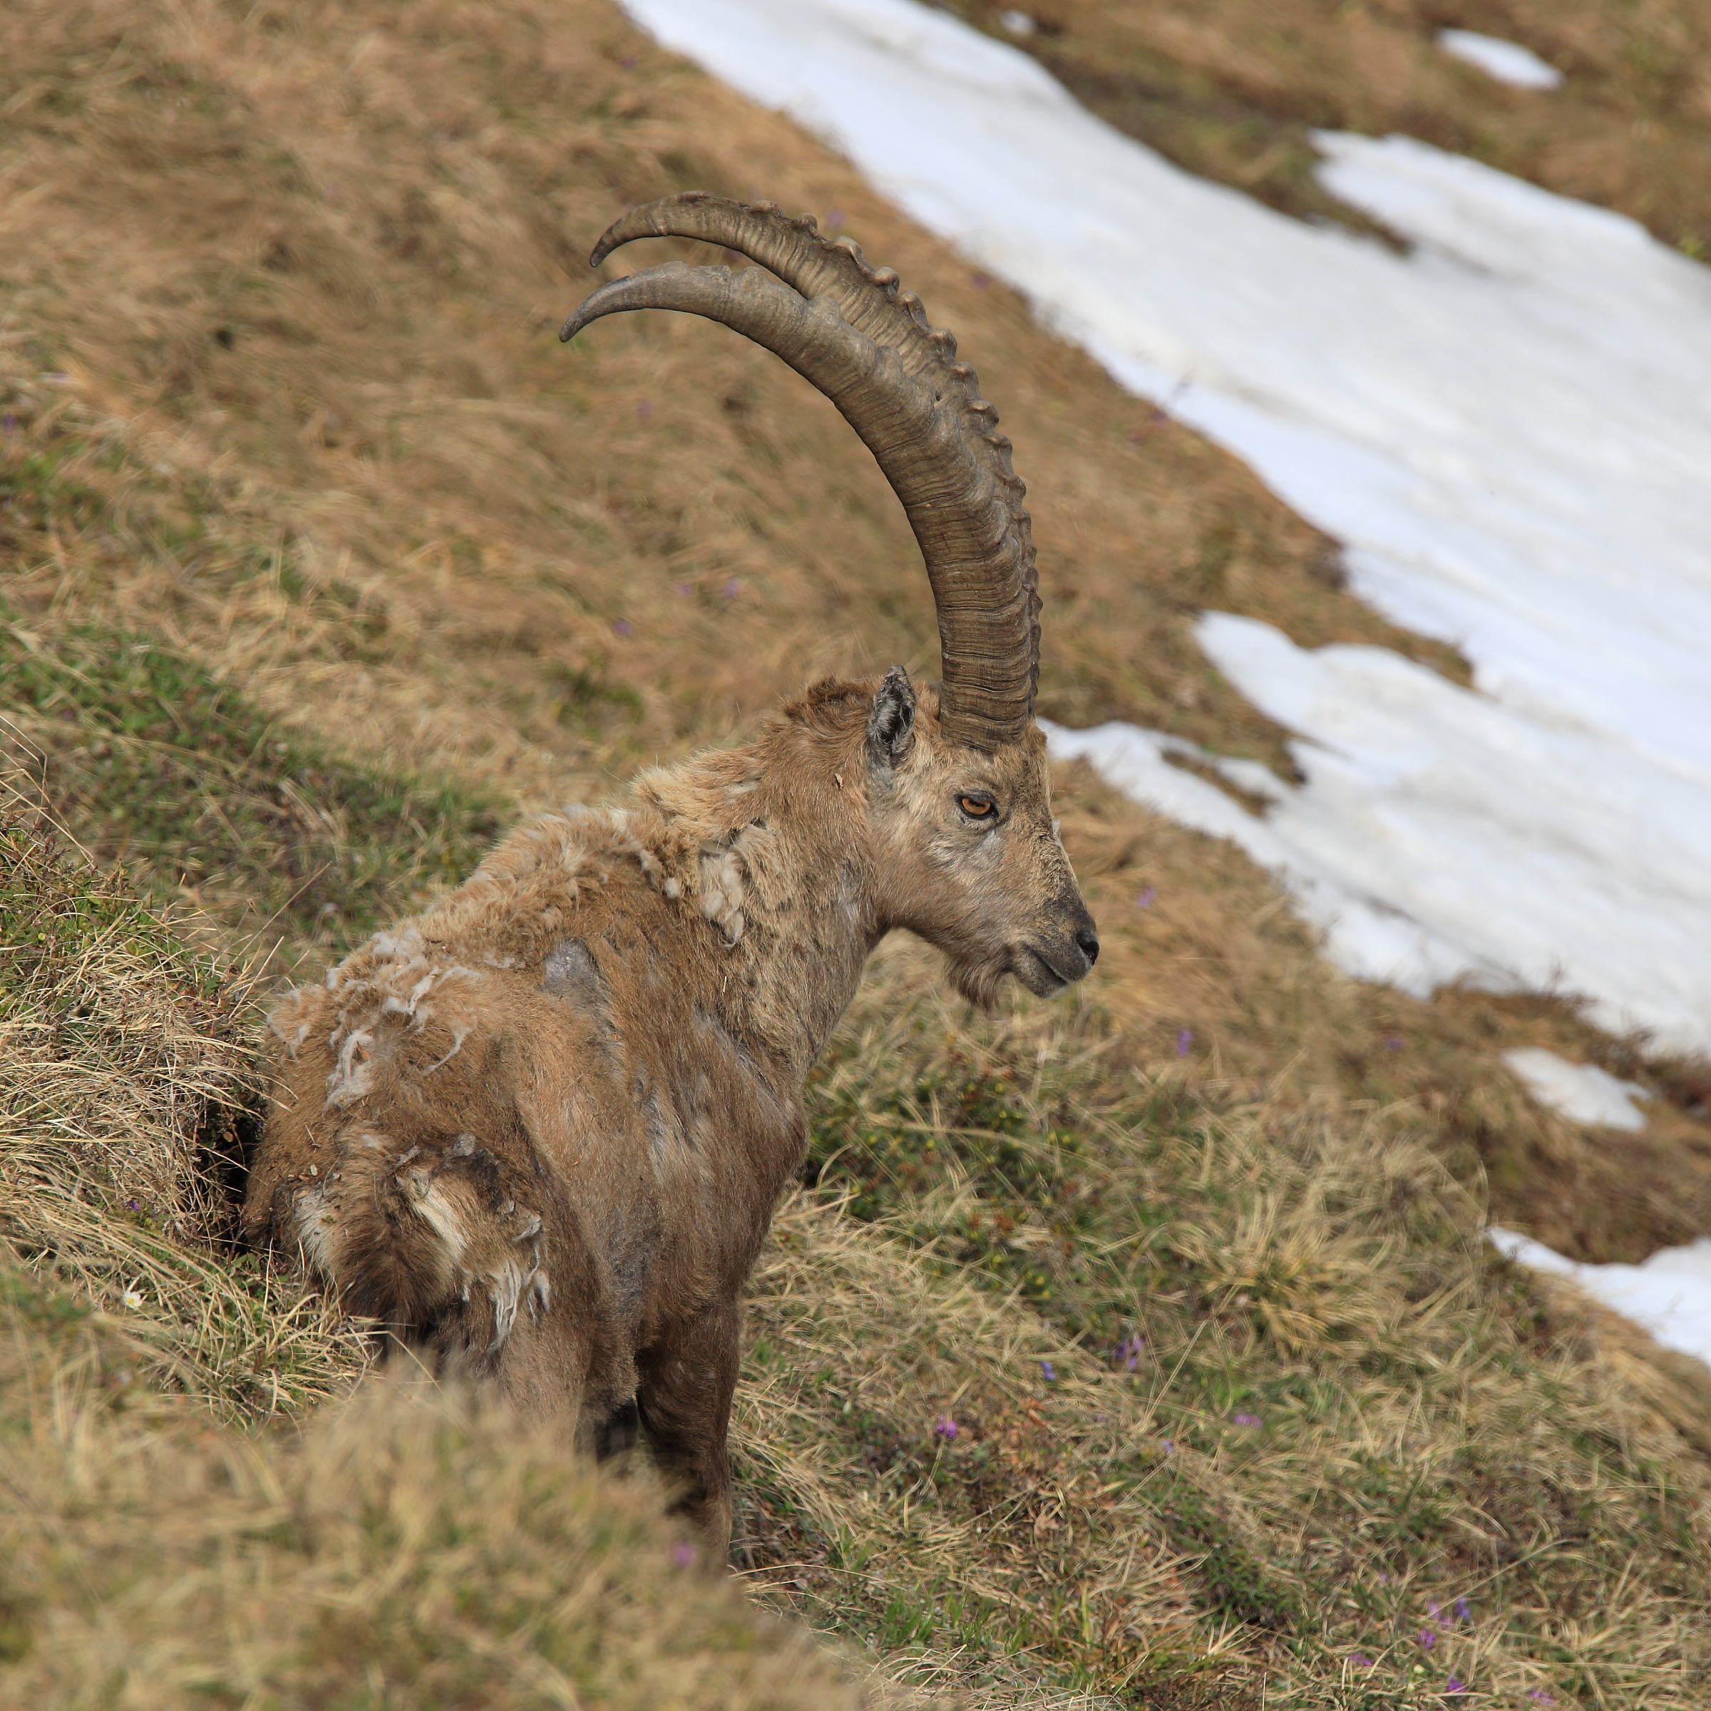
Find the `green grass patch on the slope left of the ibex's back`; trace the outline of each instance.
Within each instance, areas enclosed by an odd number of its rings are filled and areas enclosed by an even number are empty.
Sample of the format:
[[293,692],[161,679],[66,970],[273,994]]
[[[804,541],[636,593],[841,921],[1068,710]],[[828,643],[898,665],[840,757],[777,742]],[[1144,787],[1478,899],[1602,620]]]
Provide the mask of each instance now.
[[[347,944],[462,878],[503,825],[452,782],[356,765],[132,631],[33,635],[0,614],[0,678],[39,787],[103,861],[293,950]],[[27,761],[26,761],[27,765]]]

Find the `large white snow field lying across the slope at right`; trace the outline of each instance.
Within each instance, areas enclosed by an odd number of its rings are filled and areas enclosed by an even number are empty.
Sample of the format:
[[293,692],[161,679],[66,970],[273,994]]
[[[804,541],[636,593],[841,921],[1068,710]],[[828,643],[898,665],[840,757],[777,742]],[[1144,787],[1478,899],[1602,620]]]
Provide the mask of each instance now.
[[[1403,137],[1317,142],[1328,188],[1412,253],[1299,224],[914,0],[623,3],[1242,457],[1343,542],[1355,592],[1475,671],[1466,691],[1208,613],[1302,785],[1215,758],[1270,799],[1251,814],[1133,725],[1056,729],[1056,753],[1234,838],[1352,974],[1578,992],[1711,1049],[1711,270]],[[1636,1268],[1497,1239],[1711,1360],[1711,1240]]]

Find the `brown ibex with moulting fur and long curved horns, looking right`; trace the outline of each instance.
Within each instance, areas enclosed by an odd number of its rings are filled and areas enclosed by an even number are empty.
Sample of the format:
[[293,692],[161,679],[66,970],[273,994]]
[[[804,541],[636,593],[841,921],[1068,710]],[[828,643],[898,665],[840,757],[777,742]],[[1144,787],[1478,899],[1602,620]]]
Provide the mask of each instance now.
[[592,265],[669,234],[761,265],[618,279],[561,337],[681,310],[826,394],[914,525],[943,683],[818,683],[746,746],[642,773],[626,806],[520,826],[286,994],[245,1223],[394,1347],[566,1441],[611,1448],[640,1420],[722,1562],[739,1295],[867,953],[907,927],[989,1003],[1004,975],[1080,980],[1098,938],[1033,724],[1023,488],[974,371],[895,272],[770,204],[638,207]]

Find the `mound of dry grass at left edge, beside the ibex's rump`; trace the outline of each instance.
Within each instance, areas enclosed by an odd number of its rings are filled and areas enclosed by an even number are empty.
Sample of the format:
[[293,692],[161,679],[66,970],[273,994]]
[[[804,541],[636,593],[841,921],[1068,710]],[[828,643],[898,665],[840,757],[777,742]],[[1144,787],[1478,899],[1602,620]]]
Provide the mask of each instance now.
[[335,1312],[233,1251],[262,1092],[250,984],[0,804],[0,1234],[123,1326],[139,1371],[236,1418],[364,1364]]

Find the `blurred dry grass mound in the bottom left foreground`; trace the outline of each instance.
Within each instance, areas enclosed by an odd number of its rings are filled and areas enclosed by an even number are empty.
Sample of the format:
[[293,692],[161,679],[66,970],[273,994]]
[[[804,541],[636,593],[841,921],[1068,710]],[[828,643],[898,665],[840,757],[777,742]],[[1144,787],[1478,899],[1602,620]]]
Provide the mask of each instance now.
[[164,1410],[0,1270],[0,1702],[856,1711],[835,1656],[686,1566],[648,1482],[376,1386],[301,1439]]

